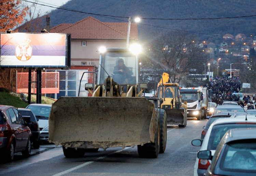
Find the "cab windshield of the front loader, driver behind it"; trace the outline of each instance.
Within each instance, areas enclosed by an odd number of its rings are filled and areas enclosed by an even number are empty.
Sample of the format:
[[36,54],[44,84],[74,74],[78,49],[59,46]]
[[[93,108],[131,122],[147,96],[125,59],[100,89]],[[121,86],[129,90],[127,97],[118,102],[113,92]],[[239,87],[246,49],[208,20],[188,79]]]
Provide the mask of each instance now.
[[128,51],[106,52],[101,56],[99,84],[108,77],[120,85],[136,84],[136,56]]

